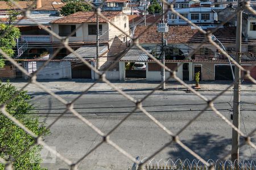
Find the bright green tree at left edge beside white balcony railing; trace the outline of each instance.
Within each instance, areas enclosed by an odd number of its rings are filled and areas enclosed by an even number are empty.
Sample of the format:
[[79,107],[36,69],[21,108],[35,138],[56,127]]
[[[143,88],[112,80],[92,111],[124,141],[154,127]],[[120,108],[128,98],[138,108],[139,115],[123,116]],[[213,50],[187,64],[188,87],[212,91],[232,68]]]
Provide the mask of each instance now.
[[[15,51],[13,48],[16,46],[16,39],[19,37],[19,28],[9,24],[0,24],[0,49],[3,50],[3,52],[5,52],[8,56],[14,56]],[[2,58],[3,56],[0,54],[0,68],[5,66],[5,62]]]

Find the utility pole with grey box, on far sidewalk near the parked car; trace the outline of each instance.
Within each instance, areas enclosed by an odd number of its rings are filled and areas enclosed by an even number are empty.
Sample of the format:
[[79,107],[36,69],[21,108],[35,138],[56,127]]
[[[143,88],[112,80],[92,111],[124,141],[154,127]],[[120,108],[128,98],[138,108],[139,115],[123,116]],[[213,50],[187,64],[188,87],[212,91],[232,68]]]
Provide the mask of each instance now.
[[[164,3],[163,2],[162,2],[162,8],[163,8],[163,24],[165,24],[164,23]],[[163,35],[162,35],[162,58],[161,58],[161,61],[162,61],[163,65],[165,66],[166,65],[166,54],[164,52],[164,46],[165,46],[164,33],[165,32],[163,32]],[[166,69],[164,69],[162,67],[162,70],[161,70],[162,90],[166,89],[165,80],[166,80]]]

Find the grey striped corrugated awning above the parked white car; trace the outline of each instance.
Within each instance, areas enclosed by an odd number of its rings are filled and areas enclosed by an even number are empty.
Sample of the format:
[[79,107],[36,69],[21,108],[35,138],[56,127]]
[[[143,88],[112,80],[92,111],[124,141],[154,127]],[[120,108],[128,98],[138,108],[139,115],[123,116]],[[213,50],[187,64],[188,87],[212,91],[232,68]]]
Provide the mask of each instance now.
[[[148,53],[151,53],[152,50],[146,50]],[[146,62],[148,56],[141,49],[130,49],[125,56],[123,56],[120,61],[124,62]]]

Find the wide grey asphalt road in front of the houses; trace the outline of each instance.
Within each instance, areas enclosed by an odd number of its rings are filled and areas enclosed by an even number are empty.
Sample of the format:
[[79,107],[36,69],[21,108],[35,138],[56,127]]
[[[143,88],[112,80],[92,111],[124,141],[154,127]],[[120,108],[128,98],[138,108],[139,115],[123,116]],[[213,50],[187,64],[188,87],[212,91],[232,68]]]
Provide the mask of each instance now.
[[[81,92],[81,84],[74,91],[56,90],[67,101],[72,101]],[[51,124],[59,114],[65,111],[65,106],[52,96],[29,89],[32,96],[31,103],[35,110],[32,113],[40,115],[40,120]],[[149,91],[130,90],[127,94],[142,99]],[[211,99],[218,91],[201,92]],[[256,92],[242,93],[241,101],[241,131],[249,133],[256,127]],[[220,96],[215,107],[230,120],[232,113],[232,92]],[[199,97],[185,91],[156,91],[145,101],[143,107],[160,121],[167,129],[177,133],[189,120],[206,106]],[[75,103],[75,110],[93,123],[104,133],[114,128],[135,104],[111,89],[93,89],[83,95]],[[65,158],[72,161],[79,160],[92,150],[102,138],[84,122],[72,113],[65,113],[63,117],[51,127],[51,134],[45,137],[45,142],[53,147]],[[181,141],[202,156],[204,159],[217,160],[231,150],[232,128],[213,111],[205,111],[197,120],[188,126],[180,135]],[[147,158],[167,142],[171,137],[160,129],[146,114],[136,111],[124,121],[113,133],[110,139],[134,158]],[[253,143],[256,137],[252,138]],[[248,146],[241,148],[241,159],[255,159],[256,152]],[[172,144],[158,155],[155,160],[194,159],[180,146]],[[43,163],[49,169],[68,169],[60,159],[53,163]],[[128,169],[133,162],[110,145],[103,144],[94,150],[79,164],[79,169]]]

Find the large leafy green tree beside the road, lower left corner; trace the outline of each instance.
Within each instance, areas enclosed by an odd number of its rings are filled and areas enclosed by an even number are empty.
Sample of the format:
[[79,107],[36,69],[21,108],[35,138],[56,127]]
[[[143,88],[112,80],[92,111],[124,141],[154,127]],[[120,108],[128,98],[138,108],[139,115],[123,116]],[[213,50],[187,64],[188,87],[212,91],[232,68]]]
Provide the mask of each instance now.
[[[17,89],[8,83],[0,82],[0,105],[9,100]],[[36,135],[43,134],[44,131],[48,134],[45,126],[40,124],[38,117],[30,116],[32,105],[28,103],[30,96],[26,91],[20,92],[9,104],[7,104],[7,112],[22,122],[28,129]],[[35,142],[34,138],[28,135],[23,129],[19,128],[13,121],[4,116],[0,112],[0,157],[7,162],[16,158],[23,150],[29,148],[28,152],[23,153],[15,160],[13,166],[15,169],[43,169],[40,167],[41,158],[39,151],[40,146],[31,147]],[[0,169],[4,169],[3,164],[0,164]]]

